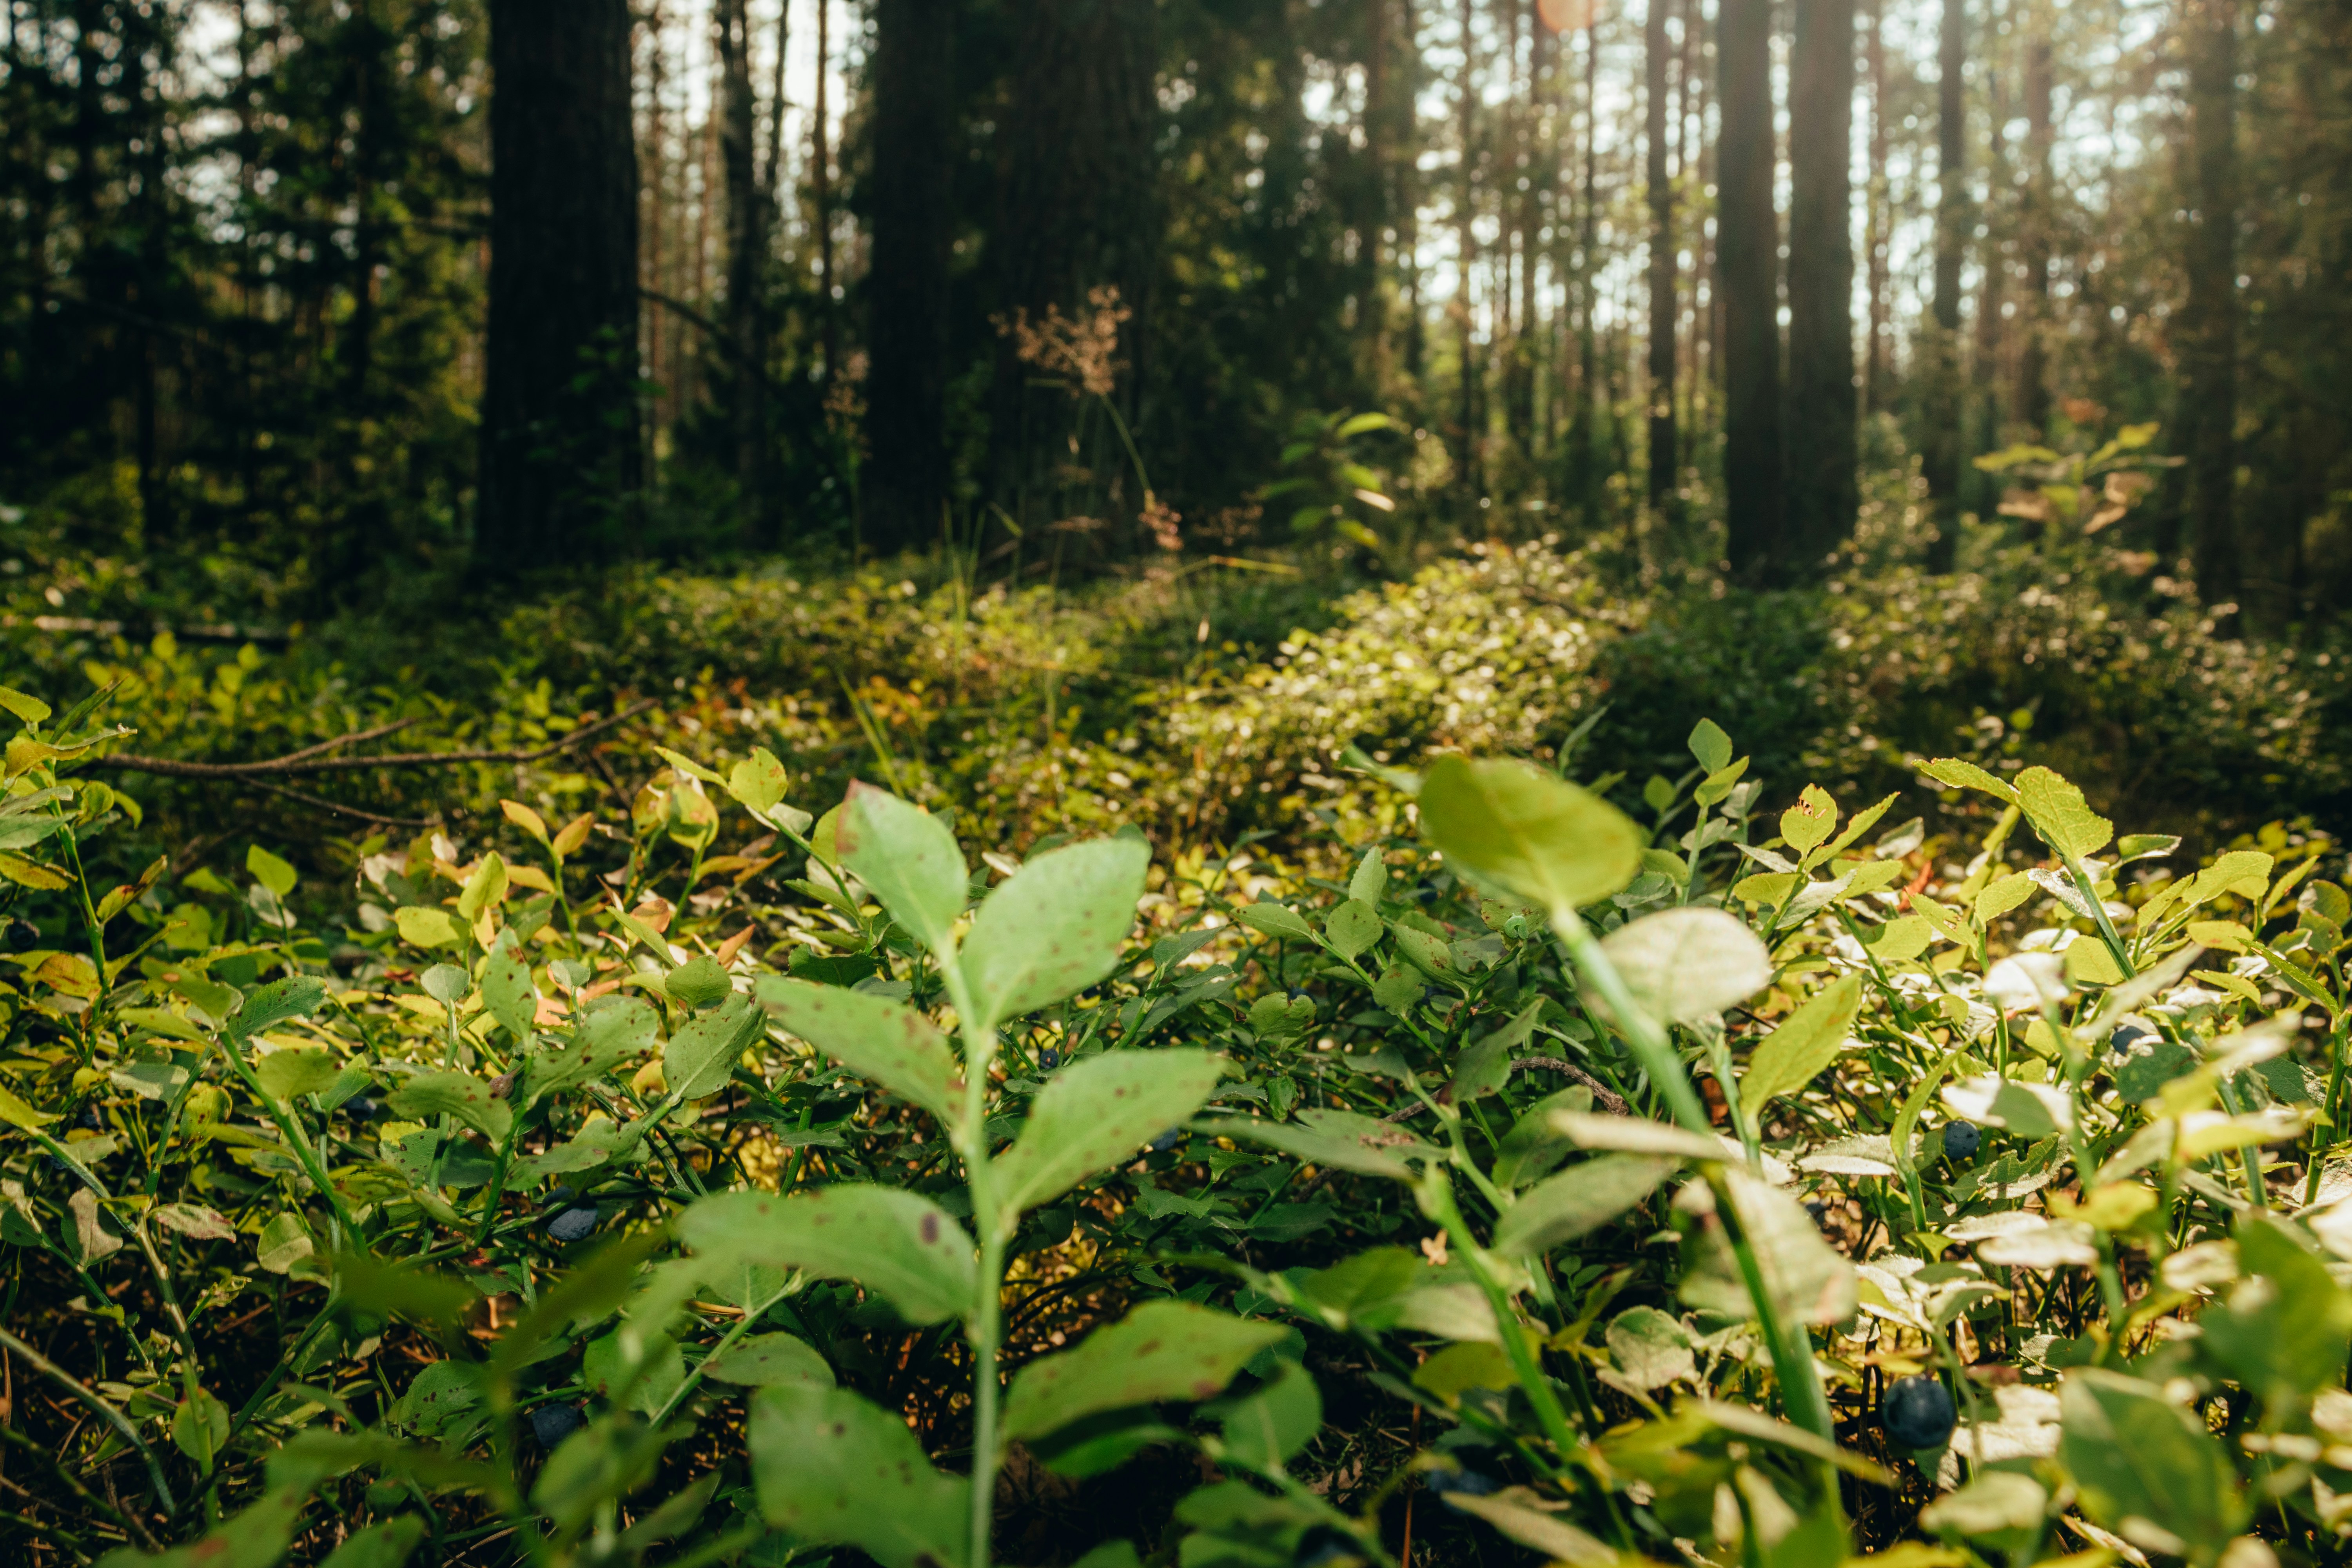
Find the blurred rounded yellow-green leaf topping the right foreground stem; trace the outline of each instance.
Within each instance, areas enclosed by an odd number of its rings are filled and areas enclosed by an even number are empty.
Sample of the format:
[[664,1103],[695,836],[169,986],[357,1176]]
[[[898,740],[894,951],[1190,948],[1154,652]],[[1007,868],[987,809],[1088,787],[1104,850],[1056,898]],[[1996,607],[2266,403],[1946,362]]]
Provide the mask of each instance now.
[[1439,757],[1421,783],[1421,820],[1456,870],[1555,917],[1642,870],[1642,830],[1623,811],[1524,762]]

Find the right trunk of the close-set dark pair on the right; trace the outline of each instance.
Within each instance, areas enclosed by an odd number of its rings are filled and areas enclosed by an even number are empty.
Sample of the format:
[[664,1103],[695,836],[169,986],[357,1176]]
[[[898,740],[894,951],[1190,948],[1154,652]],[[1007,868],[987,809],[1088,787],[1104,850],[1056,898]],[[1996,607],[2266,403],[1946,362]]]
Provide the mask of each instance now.
[[1853,0],[1797,0],[1788,85],[1790,574],[1853,538]]

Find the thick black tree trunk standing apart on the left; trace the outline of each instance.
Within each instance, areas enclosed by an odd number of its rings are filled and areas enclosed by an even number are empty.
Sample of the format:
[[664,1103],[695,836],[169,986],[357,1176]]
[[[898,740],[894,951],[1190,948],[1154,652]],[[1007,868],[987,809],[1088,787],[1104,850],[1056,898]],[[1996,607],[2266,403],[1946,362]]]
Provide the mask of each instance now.
[[492,0],[489,346],[475,548],[609,545],[635,494],[637,148],[626,0]]

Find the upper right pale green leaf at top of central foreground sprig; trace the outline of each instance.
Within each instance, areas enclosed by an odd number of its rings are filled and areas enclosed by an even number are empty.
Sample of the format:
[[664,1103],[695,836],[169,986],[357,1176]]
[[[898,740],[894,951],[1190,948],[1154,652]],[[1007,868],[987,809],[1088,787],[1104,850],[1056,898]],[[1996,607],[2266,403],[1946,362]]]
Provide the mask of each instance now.
[[1117,969],[1150,858],[1143,839],[1094,839],[1047,851],[997,886],[957,959],[981,1013],[967,1027],[985,1034]]

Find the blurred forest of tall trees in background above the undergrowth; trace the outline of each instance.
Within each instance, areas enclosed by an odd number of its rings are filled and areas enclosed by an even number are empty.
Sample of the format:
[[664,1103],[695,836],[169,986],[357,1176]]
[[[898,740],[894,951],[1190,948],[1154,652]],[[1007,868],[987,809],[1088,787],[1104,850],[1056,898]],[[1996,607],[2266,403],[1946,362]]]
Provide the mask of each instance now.
[[0,9],[0,501],[296,607],[1392,567],[1268,505],[1350,409],[1390,545],[1952,569],[2157,423],[2124,576],[2263,637],[2352,585],[2343,0]]

